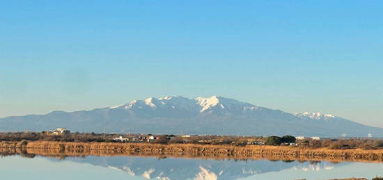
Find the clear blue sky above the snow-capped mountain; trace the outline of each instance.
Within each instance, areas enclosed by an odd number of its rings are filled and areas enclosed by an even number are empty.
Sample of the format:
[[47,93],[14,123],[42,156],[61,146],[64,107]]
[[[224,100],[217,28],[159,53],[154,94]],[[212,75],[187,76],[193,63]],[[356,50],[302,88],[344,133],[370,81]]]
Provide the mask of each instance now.
[[383,127],[383,1],[3,1],[0,117],[221,95]]

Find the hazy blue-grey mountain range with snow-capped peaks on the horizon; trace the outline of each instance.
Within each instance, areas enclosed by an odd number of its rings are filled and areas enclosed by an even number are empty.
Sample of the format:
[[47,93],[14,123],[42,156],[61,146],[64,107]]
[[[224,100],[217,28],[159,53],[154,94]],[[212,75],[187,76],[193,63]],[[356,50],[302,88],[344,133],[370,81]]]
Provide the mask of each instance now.
[[383,137],[383,129],[335,115],[286,113],[225,97],[150,97],[91,111],[54,111],[0,119],[0,131],[71,131],[113,133],[188,133],[227,135],[286,135]]

